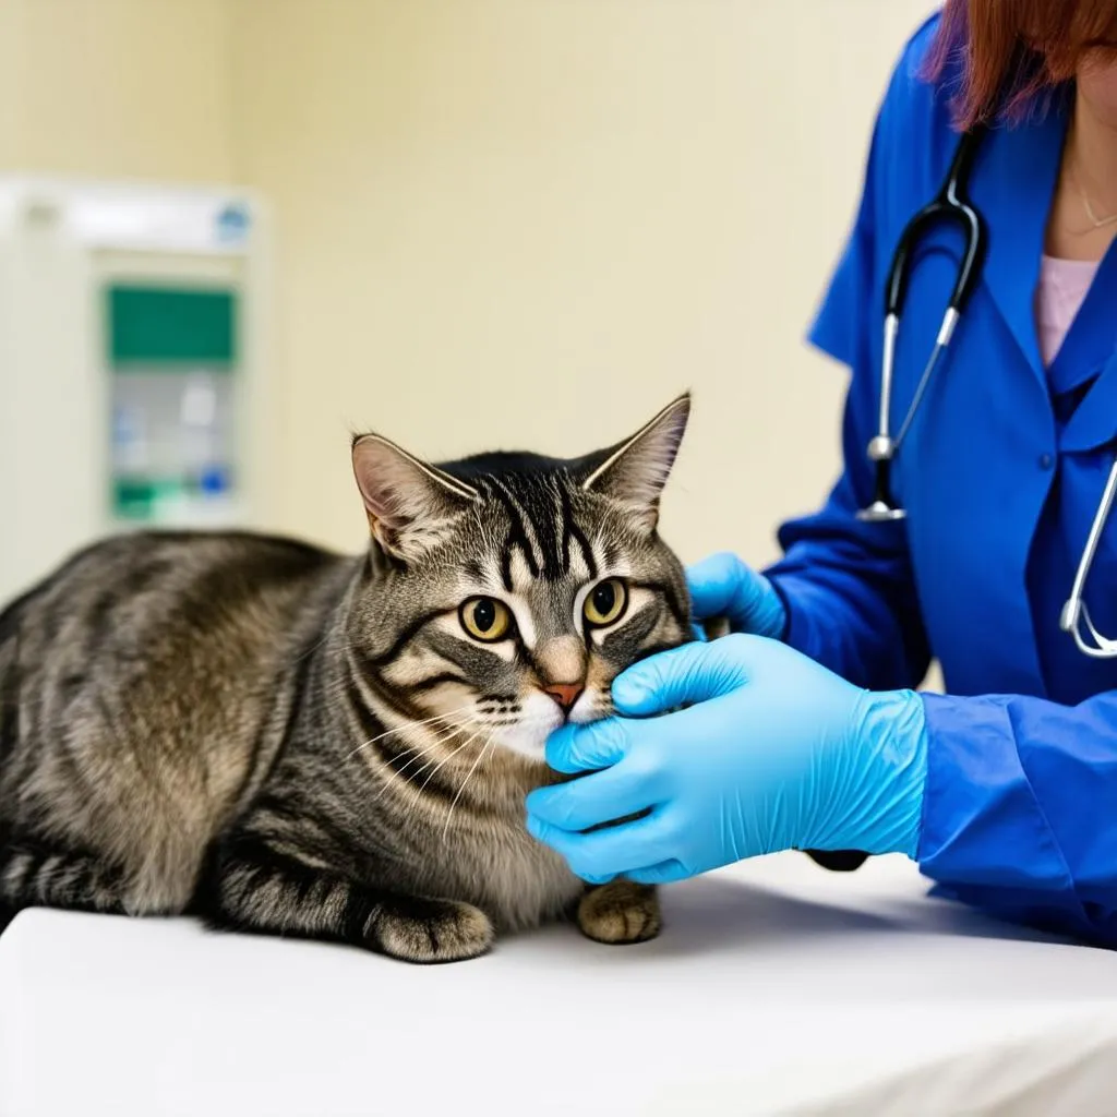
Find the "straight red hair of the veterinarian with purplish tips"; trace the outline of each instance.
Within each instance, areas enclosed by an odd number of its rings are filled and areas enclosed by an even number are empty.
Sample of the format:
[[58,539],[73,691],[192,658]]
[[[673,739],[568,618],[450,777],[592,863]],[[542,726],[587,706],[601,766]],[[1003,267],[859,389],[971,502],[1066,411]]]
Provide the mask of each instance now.
[[968,128],[1019,120],[1096,50],[1117,57],[1117,0],[946,0],[925,75],[956,73],[954,122]]

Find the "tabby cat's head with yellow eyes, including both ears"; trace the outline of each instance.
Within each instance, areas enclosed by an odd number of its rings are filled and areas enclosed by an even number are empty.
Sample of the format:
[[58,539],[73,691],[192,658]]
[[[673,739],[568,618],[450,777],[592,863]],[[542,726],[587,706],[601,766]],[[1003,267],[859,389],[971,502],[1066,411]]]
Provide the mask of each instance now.
[[682,567],[657,531],[689,410],[682,395],[569,460],[435,465],[355,438],[372,542],[349,638],[379,704],[540,761],[564,722],[611,712],[626,667],[693,639]]

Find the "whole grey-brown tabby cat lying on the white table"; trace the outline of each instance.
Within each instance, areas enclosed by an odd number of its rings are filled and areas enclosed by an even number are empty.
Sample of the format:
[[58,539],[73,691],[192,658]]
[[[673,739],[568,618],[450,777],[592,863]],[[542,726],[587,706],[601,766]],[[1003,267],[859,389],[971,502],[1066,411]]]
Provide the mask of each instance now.
[[359,556],[137,532],[70,557],[0,613],[0,915],[188,913],[418,963],[566,915],[656,935],[652,889],[584,885],[524,798],[562,779],[553,729],[693,639],[657,532],[688,414],[573,460],[357,437]]

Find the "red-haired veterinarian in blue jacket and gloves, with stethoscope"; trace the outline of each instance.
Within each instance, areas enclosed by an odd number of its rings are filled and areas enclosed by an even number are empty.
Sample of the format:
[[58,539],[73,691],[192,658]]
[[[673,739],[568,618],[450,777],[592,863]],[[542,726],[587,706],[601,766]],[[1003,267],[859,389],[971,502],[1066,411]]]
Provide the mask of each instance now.
[[[951,0],[892,74],[810,333],[851,372],[843,471],[771,569],[688,572],[739,634],[548,741],[592,774],[533,792],[528,828],[575,872],[903,853],[1117,946],[1115,233],[1117,2]],[[945,695],[914,689],[933,657]]]

